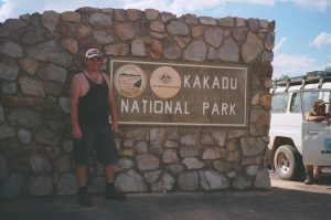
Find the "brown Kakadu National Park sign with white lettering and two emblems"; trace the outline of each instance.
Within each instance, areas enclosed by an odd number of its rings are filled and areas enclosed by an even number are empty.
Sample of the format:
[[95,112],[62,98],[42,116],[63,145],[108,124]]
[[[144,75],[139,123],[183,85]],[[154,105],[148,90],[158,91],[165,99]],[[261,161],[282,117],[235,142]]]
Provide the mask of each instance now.
[[109,64],[119,124],[247,126],[247,66]]

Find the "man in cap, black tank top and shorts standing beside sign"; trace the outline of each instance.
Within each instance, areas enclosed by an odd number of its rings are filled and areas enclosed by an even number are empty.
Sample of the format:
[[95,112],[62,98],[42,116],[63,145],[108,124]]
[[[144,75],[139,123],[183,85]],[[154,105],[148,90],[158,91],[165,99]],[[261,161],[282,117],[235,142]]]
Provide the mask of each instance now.
[[[74,137],[74,156],[77,161],[78,202],[93,206],[87,192],[89,153],[95,149],[105,165],[106,199],[125,200],[114,186],[117,159],[113,133],[118,132],[114,94],[109,77],[99,72],[103,54],[89,49],[85,54],[86,71],[74,76],[71,86],[71,114]],[[111,126],[109,125],[109,113]]]

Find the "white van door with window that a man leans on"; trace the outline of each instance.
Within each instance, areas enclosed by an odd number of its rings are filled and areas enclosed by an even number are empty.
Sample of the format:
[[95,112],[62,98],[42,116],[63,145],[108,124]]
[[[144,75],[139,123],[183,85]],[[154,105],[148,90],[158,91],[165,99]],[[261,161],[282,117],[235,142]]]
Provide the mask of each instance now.
[[[305,91],[302,92],[302,114],[310,111],[318,97],[330,103],[330,91]],[[330,104],[327,106],[330,112]],[[302,159],[303,165],[331,166],[331,125],[327,122],[307,122],[302,119]]]

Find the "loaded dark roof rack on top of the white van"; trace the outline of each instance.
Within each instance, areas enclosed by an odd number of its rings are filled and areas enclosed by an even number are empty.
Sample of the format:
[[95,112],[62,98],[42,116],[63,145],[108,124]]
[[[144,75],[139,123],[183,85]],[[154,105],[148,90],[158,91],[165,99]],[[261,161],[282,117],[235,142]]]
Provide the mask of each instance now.
[[276,80],[273,83],[274,91],[277,86],[285,86],[287,91],[290,85],[301,85],[301,88],[303,88],[307,84],[319,83],[319,87],[321,87],[324,82],[331,82],[331,72],[311,71],[308,72],[306,75]]

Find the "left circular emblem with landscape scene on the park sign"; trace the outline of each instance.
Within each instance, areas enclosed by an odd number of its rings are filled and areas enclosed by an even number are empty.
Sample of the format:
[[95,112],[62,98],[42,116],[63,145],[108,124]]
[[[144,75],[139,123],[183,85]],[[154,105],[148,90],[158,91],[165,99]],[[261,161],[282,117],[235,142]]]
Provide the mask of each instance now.
[[146,87],[143,71],[134,64],[120,66],[116,71],[114,80],[117,92],[126,97],[136,97]]

